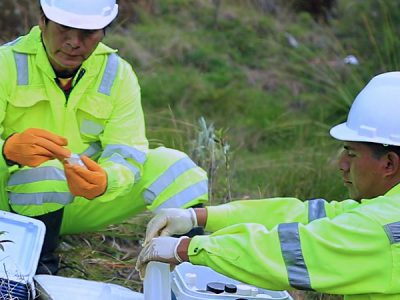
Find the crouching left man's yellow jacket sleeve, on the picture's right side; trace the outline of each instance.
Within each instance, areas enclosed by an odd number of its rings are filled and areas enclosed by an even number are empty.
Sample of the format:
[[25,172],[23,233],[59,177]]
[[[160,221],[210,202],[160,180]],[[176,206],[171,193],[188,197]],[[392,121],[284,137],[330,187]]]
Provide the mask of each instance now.
[[140,180],[148,151],[138,80],[122,59],[119,68],[112,90],[113,111],[101,136],[103,152],[98,163],[107,173],[108,186],[100,201],[127,193]]

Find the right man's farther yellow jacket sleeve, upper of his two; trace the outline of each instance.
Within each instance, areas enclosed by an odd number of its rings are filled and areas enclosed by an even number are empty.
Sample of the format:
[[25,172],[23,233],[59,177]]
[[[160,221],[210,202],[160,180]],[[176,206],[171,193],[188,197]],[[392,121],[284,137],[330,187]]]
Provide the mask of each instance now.
[[280,223],[300,222],[333,218],[358,206],[358,202],[345,200],[327,202],[323,199],[301,201],[296,198],[271,198],[239,200],[207,207],[206,230],[214,232],[239,223],[258,223],[271,229]]

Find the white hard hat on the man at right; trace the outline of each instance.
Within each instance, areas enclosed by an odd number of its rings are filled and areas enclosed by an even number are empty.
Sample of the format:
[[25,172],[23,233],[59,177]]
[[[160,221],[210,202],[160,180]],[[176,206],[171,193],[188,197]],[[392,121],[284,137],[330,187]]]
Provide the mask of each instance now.
[[372,78],[354,100],[347,121],[330,134],[341,141],[400,146],[400,72]]

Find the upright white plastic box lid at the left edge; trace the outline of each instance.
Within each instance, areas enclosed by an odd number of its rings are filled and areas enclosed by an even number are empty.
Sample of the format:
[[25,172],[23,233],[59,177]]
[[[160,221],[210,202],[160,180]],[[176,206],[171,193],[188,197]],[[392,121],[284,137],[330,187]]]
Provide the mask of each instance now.
[[0,299],[35,298],[33,284],[46,227],[43,222],[0,211]]

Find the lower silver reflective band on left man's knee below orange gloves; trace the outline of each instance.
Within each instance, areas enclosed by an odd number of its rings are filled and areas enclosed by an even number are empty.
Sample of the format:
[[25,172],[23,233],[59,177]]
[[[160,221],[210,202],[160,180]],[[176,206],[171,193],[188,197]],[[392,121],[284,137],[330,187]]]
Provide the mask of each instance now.
[[10,204],[14,205],[41,205],[43,203],[58,203],[66,205],[71,203],[74,196],[69,192],[49,192],[49,193],[31,193],[19,194],[9,193]]

